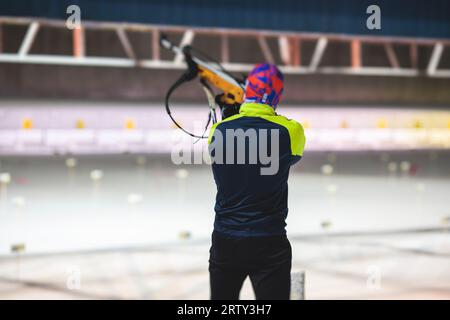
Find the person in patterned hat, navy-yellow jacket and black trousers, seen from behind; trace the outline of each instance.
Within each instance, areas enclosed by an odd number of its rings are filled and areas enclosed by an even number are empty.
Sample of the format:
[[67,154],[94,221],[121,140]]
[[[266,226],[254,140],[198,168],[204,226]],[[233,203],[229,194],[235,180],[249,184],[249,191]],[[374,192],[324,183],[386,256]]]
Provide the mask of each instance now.
[[283,75],[275,66],[256,66],[239,114],[210,131],[217,185],[212,299],[237,299],[247,275],[257,298],[289,298],[287,180],[305,137],[299,123],[275,113],[282,91]]

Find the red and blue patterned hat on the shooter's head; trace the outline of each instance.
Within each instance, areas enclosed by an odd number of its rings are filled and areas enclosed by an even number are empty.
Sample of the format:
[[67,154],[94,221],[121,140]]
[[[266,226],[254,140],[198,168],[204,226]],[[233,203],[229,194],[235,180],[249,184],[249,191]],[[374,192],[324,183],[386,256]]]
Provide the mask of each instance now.
[[276,109],[283,89],[281,71],[273,64],[258,64],[247,77],[245,102],[263,103]]

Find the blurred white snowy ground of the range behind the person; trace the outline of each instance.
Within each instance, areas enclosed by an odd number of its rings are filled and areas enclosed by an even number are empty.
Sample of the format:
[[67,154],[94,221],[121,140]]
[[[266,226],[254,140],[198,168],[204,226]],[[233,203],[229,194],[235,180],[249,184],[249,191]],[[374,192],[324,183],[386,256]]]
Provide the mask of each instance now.
[[[0,298],[208,298],[208,166],[0,157],[0,172]],[[450,298],[449,151],[309,153],[289,187],[306,298]]]

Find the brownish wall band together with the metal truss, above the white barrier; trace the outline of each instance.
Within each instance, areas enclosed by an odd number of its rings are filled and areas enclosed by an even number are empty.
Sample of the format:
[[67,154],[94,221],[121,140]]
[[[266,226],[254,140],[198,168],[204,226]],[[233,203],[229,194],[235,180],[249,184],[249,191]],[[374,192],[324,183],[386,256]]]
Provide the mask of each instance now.
[[[192,43],[230,71],[271,61],[292,103],[446,105],[450,40],[0,18],[0,96],[162,100],[184,64],[159,36]],[[325,94],[324,94],[325,93]],[[180,90],[199,101],[200,90]]]

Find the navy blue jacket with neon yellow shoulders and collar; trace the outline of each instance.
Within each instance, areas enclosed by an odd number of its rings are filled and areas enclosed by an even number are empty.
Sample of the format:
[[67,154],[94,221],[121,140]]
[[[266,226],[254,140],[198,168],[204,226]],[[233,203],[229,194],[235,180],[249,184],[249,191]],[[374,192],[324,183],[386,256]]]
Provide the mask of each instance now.
[[245,103],[211,128],[208,142],[217,185],[214,230],[232,237],[285,234],[289,169],[305,146],[301,124],[268,105]]

